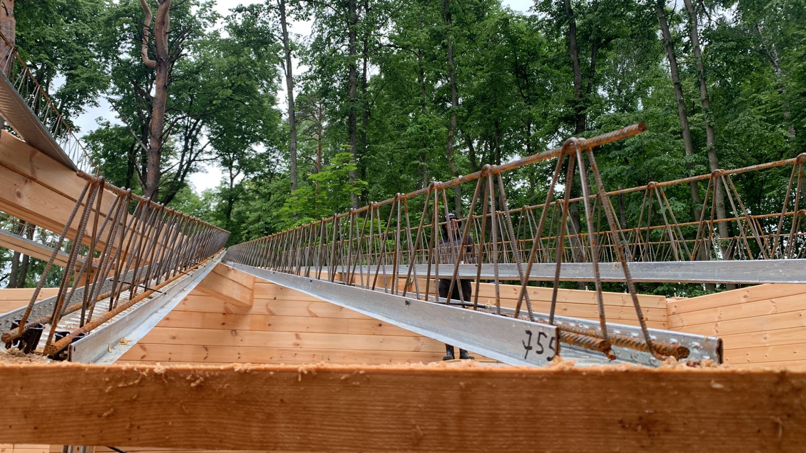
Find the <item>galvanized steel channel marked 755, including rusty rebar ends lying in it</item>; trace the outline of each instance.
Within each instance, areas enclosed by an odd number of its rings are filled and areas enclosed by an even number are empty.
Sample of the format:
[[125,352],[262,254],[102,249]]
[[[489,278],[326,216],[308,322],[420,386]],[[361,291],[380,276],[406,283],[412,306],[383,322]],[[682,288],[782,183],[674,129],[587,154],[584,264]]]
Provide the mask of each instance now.
[[[355,310],[394,326],[425,335],[444,343],[475,351],[491,359],[511,365],[543,366],[557,355],[573,359],[577,364],[631,363],[659,365],[641,339],[635,326],[608,324],[609,340],[596,332],[596,323],[580,318],[558,316],[555,325],[548,315],[535,314],[535,321],[526,316],[515,317],[514,310],[480,304],[478,310],[466,310],[461,305],[448,305],[444,298],[437,301],[400,294],[372,291],[340,281],[318,280],[285,272],[227,262],[227,265],[247,272],[264,281]],[[721,340],[667,330],[650,329],[654,345],[668,355],[688,360],[710,359],[721,363]]]

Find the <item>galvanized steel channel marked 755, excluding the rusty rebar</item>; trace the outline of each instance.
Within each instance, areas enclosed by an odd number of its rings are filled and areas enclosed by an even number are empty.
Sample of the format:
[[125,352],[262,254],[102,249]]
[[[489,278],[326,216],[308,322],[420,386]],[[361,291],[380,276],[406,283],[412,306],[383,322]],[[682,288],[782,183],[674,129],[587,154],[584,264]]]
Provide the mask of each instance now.
[[[535,340],[542,335],[538,332],[546,332],[548,335],[546,327],[556,329],[555,326],[550,326],[547,314],[534,313],[537,322],[530,322],[526,319],[525,313],[521,312],[521,318],[513,318],[514,310],[503,307],[501,313],[509,317],[484,311],[466,310],[456,306],[457,303],[442,305],[413,297],[384,293],[382,290],[372,291],[341,283],[254,268],[245,264],[232,262],[226,262],[226,264],[277,285],[296,289],[310,296],[318,297],[322,301],[358,311],[432,339],[477,351],[507,364],[545,364],[545,362],[525,361],[522,355],[525,355],[526,347],[538,348]],[[484,304],[480,304],[480,307],[490,310],[494,308]],[[599,328],[598,322],[581,318],[555,316],[555,321],[560,328],[563,326],[587,330]],[[509,322],[525,322],[526,324],[510,325]],[[540,330],[537,330],[538,328]],[[529,335],[528,332],[532,334]],[[638,326],[608,323],[608,332],[610,335],[642,339],[642,330]],[[649,332],[651,338],[656,342],[678,344],[688,348],[690,352],[687,360],[711,359],[717,364],[722,362],[721,339],[661,329],[650,329]],[[541,343],[542,346],[546,344],[545,340]],[[636,351],[615,345],[612,351],[616,355],[614,361],[610,361],[605,355],[582,347],[562,343],[559,355],[562,355],[564,359],[575,359],[578,363],[586,365],[632,363],[656,367],[660,364],[660,361],[647,351]]]

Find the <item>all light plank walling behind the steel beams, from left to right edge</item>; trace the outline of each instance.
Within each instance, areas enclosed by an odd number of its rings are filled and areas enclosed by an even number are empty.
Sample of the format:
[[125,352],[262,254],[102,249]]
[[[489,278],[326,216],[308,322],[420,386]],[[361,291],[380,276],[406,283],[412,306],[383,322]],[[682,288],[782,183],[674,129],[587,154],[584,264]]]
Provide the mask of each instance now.
[[[121,360],[399,364],[428,363],[444,354],[442,343],[292,289],[231,268],[214,274],[215,285],[197,287]],[[518,288],[501,285],[502,305],[515,305]],[[26,304],[31,291],[0,290],[0,310]],[[55,293],[44,289],[40,297]],[[493,297],[493,285],[481,285],[480,301],[492,304]],[[531,287],[530,297],[534,310],[549,309],[551,289]],[[650,327],[721,337],[728,364],[806,368],[806,285],[758,285],[682,300],[641,295],[639,301]],[[626,294],[605,293],[605,310],[609,322],[637,324]],[[557,313],[596,319],[596,294],[563,289]]]

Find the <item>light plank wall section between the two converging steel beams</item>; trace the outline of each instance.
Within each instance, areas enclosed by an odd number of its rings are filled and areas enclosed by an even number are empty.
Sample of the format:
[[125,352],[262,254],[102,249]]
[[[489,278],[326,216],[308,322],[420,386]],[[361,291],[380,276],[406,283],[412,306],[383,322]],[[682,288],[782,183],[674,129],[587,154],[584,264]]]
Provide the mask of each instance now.
[[[213,272],[215,285],[194,289],[120,361],[401,364],[445,354],[433,339],[227,269]],[[238,291],[251,286],[250,294],[233,301],[233,289],[222,289],[233,283]]]

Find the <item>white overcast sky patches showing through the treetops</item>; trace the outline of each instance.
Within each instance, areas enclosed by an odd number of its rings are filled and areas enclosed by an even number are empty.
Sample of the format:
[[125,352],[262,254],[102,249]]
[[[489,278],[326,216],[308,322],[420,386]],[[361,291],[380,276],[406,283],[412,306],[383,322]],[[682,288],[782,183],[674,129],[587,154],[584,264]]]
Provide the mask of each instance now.
[[[250,2],[247,0],[218,0],[216,10],[218,10],[218,13],[222,16],[226,16],[229,14],[229,10],[235,6],[260,2],[263,2],[263,0],[258,2]],[[513,10],[526,12],[534,5],[534,0],[501,0],[501,3],[505,6],[509,6]],[[310,23],[291,23],[290,29],[297,35],[310,35]],[[297,68],[295,74],[298,73],[299,69]],[[282,88],[277,96],[277,100],[281,103],[280,107],[283,108],[285,106],[285,83],[281,83],[280,87]],[[113,123],[118,123],[118,121],[115,120],[114,113],[111,111],[106,100],[100,98],[98,103],[100,104],[98,107],[88,108],[84,114],[81,114],[81,116],[76,119],[77,126],[81,128],[81,133],[79,135],[97,128],[97,118],[102,118],[104,120],[108,119]],[[194,173],[189,177],[189,182],[191,185],[193,185],[193,188],[196,189],[197,192],[202,192],[204,189],[211,189],[217,186],[218,182],[221,181],[222,176],[223,173],[217,166],[206,165],[206,171]]]

